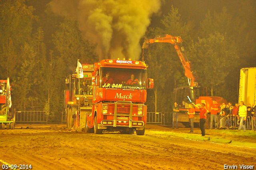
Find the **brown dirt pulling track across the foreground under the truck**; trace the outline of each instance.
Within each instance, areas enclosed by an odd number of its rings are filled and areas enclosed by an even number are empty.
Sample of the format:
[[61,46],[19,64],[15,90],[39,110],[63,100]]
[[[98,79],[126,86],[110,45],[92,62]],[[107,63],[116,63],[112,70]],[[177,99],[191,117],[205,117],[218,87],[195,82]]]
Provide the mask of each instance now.
[[197,141],[161,131],[170,129],[149,125],[144,136],[89,134],[60,126],[0,130],[0,160],[31,164],[34,170],[221,170],[224,164],[238,169],[239,164],[256,165],[255,148],[214,144],[207,132],[205,141]]

